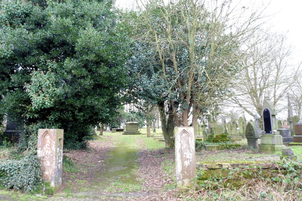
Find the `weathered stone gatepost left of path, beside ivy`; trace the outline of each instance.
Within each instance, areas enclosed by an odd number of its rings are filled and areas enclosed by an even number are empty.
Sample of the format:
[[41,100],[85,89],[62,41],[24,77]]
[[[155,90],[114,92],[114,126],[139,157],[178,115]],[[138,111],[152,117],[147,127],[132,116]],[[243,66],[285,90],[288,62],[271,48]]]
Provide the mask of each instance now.
[[62,185],[63,129],[39,129],[37,155],[46,183],[46,193],[53,195]]

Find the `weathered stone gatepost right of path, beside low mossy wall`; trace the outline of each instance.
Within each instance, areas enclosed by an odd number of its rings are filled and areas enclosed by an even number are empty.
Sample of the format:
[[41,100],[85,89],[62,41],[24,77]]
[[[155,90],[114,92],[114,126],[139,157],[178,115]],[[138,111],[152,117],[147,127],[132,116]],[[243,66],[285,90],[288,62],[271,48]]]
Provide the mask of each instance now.
[[175,127],[175,164],[178,187],[193,187],[196,177],[193,127]]

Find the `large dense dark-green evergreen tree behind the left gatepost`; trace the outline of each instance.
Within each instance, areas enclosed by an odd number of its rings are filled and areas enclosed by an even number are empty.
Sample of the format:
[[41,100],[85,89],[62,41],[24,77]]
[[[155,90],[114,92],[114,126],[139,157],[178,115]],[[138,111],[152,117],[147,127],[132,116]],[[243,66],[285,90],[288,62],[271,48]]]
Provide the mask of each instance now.
[[111,0],[1,0],[0,118],[27,136],[62,128],[65,143],[108,124],[127,83],[117,22]]

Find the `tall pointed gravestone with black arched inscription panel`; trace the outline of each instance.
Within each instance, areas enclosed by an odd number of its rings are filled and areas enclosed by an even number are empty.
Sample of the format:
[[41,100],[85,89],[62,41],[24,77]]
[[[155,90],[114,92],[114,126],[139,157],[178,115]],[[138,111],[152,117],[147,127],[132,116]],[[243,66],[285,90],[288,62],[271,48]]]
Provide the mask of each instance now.
[[261,144],[259,150],[267,153],[274,153],[286,148],[283,145],[282,136],[277,131],[278,124],[276,121],[277,111],[270,101],[269,97],[265,97],[262,107],[262,121],[264,135],[261,135]]

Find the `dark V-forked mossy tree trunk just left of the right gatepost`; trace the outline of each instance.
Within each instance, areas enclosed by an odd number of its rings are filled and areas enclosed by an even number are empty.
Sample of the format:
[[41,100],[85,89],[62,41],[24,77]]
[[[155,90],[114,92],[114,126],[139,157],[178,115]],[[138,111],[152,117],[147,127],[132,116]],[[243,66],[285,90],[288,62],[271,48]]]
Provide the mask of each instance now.
[[166,121],[165,115],[165,104],[163,101],[159,101],[158,103],[160,120],[162,122],[162,134],[165,138],[166,149],[174,148],[174,121],[173,121],[173,111],[172,108],[169,107],[169,117],[168,121]]

